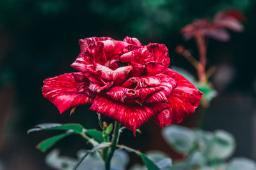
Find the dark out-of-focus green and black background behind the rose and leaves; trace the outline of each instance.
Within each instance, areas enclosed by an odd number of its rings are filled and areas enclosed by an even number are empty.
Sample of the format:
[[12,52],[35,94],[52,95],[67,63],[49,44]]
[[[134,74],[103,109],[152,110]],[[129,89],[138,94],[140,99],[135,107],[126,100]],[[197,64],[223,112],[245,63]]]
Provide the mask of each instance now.
[[[137,37],[143,45],[164,43],[172,66],[195,74],[189,62],[175,53],[184,45],[196,56],[193,40],[184,41],[182,26],[195,18],[212,17],[236,8],[246,16],[245,31],[230,32],[228,42],[209,41],[209,65],[217,67],[211,81],[218,91],[206,111],[203,129],[224,129],[237,141],[234,155],[256,160],[256,1],[254,0],[1,0],[0,1],[0,169],[51,169],[35,146],[54,132],[26,131],[45,122],[83,124],[98,128],[97,115],[81,106],[72,116],[62,115],[41,92],[43,80],[75,71],[70,64],[79,54],[78,39],[109,36]],[[200,108],[182,123],[197,127]],[[105,118],[106,121],[109,121]],[[141,135],[122,134],[120,143],[142,152],[162,150],[173,159],[181,156],[161,138],[161,129],[148,122]],[[75,156],[86,143],[70,136],[57,143],[61,154]],[[131,164],[140,162],[131,155]],[[130,165],[131,166],[131,165]]]

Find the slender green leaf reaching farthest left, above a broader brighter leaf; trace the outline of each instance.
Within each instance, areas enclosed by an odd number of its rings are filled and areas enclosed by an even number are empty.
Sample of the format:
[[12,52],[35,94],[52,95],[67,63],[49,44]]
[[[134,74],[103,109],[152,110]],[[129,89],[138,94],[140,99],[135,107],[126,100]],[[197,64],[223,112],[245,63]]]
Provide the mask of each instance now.
[[83,126],[80,124],[39,124],[36,128],[29,129],[28,133],[42,130],[68,130],[76,133],[83,132]]

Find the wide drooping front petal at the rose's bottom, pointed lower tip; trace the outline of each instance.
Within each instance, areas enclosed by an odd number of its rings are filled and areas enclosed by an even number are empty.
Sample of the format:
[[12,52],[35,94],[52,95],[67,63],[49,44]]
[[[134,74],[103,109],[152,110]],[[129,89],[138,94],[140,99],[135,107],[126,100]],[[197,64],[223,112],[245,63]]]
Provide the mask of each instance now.
[[113,118],[127,127],[127,129],[136,131],[149,118],[166,108],[168,108],[166,103],[155,103],[148,106],[129,106],[113,101],[103,94],[97,94],[90,110]]

